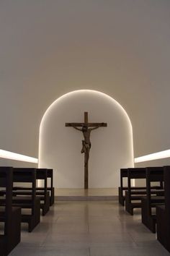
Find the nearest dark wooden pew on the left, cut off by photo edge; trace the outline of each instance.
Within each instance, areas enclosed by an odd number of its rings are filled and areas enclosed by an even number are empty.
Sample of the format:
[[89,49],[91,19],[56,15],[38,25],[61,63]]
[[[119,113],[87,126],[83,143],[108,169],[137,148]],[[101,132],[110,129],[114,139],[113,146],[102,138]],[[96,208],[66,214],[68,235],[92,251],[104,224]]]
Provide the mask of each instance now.
[[20,242],[21,208],[12,207],[13,168],[0,167],[0,187],[6,196],[0,197],[0,221],[4,223],[4,234],[0,235],[0,256],[6,256]]

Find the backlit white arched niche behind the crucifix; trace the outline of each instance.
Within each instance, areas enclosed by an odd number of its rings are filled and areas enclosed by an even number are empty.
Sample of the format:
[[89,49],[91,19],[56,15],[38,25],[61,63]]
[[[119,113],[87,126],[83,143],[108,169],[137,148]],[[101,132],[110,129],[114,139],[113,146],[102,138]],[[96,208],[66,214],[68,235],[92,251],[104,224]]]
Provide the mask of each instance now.
[[82,132],[66,122],[107,122],[91,132],[89,188],[118,187],[120,168],[133,167],[133,130],[125,109],[113,98],[94,90],[76,90],[53,102],[40,124],[39,167],[53,168],[54,186],[84,187]]

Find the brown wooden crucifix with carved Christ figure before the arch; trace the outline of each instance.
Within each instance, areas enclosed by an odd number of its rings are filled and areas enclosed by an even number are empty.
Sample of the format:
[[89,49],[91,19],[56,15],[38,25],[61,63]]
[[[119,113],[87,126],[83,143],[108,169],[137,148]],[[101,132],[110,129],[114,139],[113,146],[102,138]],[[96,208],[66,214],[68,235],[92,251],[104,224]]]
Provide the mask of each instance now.
[[84,123],[66,123],[66,127],[73,127],[74,129],[77,129],[80,132],[83,132],[84,140],[82,140],[81,153],[84,153],[84,189],[88,189],[89,188],[88,163],[89,163],[89,152],[91,148],[90,133],[92,130],[97,129],[99,127],[107,127],[107,123],[89,123],[88,112],[84,112]]

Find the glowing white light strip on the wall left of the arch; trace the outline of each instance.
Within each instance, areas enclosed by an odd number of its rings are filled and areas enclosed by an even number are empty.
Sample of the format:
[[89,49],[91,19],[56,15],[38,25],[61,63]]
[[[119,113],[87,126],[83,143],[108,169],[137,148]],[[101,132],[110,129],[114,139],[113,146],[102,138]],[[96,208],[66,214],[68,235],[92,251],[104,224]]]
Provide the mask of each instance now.
[[0,158],[12,159],[29,163],[38,163],[37,158],[31,158],[30,156],[27,155],[20,155],[6,150],[0,150]]

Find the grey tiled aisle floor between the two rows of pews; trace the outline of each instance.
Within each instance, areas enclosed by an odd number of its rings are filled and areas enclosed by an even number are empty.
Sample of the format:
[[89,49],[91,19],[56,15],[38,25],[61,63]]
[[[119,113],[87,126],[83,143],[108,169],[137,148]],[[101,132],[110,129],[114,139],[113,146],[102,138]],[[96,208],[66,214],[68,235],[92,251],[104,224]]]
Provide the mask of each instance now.
[[55,202],[37,228],[22,231],[10,256],[170,255],[142,223],[117,201]]

